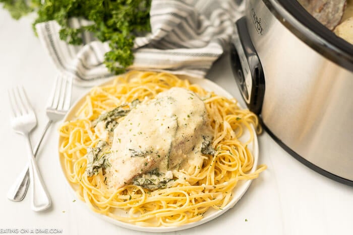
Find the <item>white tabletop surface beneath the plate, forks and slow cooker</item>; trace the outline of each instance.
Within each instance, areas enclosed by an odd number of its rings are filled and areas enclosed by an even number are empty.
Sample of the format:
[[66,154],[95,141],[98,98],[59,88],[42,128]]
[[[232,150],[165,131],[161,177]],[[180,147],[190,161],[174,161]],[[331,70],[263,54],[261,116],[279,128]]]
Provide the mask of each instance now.
[[[38,165],[52,197],[44,212],[30,209],[30,195],[12,202],[6,193],[27,161],[24,139],[10,127],[7,89],[23,85],[35,109],[38,140],[46,124],[45,105],[56,74],[55,67],[34,36],[31,19],[14,21],[0,10],[0,232],[8,228],[56,228],[63,234],[141,234],[96,217],[67,186],[58,162],[56,123],[38,155]],[[209,79],[244,102],[224,55]],[[73,100],[87,89],[74,88]],[[267,133],[259,136],[259,163],[268,169],[253,181],[244,197],[222,216],[206,224],[168,234],[353,234],[353,187],[327,179],[292,158]],[[63,212],[65,211],[65,212]],[[247,219],[247,221],[245,221]]]

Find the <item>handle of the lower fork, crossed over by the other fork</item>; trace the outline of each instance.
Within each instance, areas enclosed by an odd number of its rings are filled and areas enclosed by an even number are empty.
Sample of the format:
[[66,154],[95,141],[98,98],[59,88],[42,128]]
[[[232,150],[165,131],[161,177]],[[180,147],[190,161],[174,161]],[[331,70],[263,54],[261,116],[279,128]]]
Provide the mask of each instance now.
[[[37,145],[35,146],[33,152],[34,156],[36,156],[39,146],[44,138],[44,135],[46,131],[49,129],[49,126],[51,125],[52,120],[49,120],[48,123],[46,124],[43,133],[40,137],[40,140],[38,141]],[[16,178],[16,181],[12,184],[10,190],[8,191],[7,197],[11,201],[19,202],[22,201],[23,198],[25,197],[27,193],[27,189],[29,186],[29,169],[28,169],[28,164],[23,168],[19,176]]]

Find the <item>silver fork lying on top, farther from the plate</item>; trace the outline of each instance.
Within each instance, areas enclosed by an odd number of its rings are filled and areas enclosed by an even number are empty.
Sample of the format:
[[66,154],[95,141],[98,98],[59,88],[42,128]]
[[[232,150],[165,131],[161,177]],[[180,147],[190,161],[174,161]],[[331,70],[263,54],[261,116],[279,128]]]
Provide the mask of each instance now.
[[10,90],[9,99],[13,112],[11,126],[17,133],[25,136],[27,143],[29,153],[29,177],[33,182],[32,209],[34,211],[45,210],[51,205],[51,200],[34,159],[29,137],[29,133],[37,125],[37,118],[23,88],[20,89],[17,87]]

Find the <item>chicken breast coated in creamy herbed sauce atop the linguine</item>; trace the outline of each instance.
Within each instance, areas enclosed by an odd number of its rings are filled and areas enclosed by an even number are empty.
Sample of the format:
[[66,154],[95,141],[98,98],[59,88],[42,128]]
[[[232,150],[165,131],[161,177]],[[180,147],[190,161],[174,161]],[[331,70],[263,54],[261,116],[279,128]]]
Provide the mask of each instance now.
[[[97,128],[107,138],[102,127]],[[115,127],[106,183],[120,188],[156,168],[167,179],[181,169],[193,172],[202,167],[203,136],[212,138],[203,101],[183,88],[162,92]]]

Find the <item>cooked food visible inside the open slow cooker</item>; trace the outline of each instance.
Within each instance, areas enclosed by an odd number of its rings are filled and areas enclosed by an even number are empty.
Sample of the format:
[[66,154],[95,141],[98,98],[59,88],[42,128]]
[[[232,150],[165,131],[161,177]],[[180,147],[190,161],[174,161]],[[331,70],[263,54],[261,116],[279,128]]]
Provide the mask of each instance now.
[[353,44],[353,0],[298,0],[320,23]]

